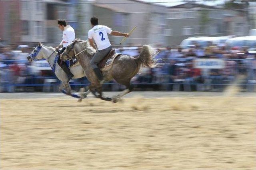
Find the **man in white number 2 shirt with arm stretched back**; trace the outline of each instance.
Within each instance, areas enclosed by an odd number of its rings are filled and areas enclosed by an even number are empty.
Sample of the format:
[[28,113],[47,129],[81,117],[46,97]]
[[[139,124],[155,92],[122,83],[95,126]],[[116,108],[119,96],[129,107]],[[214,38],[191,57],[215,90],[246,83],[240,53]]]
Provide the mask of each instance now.
[[97,64],[100,63],[100,61],[104,59],[104,57],[108,55],[108,53],[112,50],[112,46],[108,39],[108,34],[124,37],[129,37],[129,34],[120,33],[118,31],[112,31],[109,27],[105,25],[98,25],[98,18],[96,17],[92,17],[90,21],[92,29],[88,31],[89,42],[93,48],[96,48],[92,40],[94,39],[94,42],[96,43],[98,48],[98,51],[90,61],[90,66],[93,68],[96,76],[102,83],[104,77],[102,75],[102,72],[100,71],[100,68],[98,68]]

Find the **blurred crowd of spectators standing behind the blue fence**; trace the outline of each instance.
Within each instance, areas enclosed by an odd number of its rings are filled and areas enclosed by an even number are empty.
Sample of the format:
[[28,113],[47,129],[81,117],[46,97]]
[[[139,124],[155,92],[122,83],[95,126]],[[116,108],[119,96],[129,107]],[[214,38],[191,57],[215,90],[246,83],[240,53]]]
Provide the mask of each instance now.
[[[141,46],[116,47],[116,53],[137,57]],[[225,44],[207,47],[190,45],[181,47],[155,47],[156,66],[141,68],[132,79],[137,88],[173,90],[173,84],[208,84],[206,90],[220,90],[232,84],[238,75],[244,75],[242,84],[256,80],[256,51],[248,47],[226,47]],[[28,45],[0,47],[0,92],[40,91],[46,77],[55,77],[52,70],[40,70],[26,57],[32,52]],[[255,52],[255,53],[254,53]],[[223,59],[222,69],[194,68],[195,59]],[[74,84],[87,84],[86,78],[72,80]],[[113,82],[110,82],[113,83]],[[112,88],[113,90],[113,88]],[[118,89],[116,89],[118,90]]]

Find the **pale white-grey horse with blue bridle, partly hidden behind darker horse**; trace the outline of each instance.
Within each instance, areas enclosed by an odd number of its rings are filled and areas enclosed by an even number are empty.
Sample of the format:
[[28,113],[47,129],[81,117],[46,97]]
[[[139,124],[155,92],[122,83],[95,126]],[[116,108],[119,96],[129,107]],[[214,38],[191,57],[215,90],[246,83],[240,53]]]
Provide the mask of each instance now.
[[[47,47],[45,45],[42,45],[42,43],[39,43],[38,46],[35,47],[34,50],[30,53],[27,59],[30,62],[38,61],[42,59],[45,59],[46,61],[48,61],[55,75],[62,82],[62,86],[60,86],[60,89],[62,88],[66,89],[66,91],[62,90],[62,92],[72,97],[80,98],[80,96],[77,96],[76,94],[71,94],[71,87],[68,82],[69,81],[68,76],[59,66],[56,59],[57,55],[58,53],[57,51],[55,51],[53,47]],[[72,66],[70,68],[70,71],[72,72],[72,74],[74,74],[74,78],[82,78],[85,76],[85,72],[79,64],[75,64],[74,66]]]

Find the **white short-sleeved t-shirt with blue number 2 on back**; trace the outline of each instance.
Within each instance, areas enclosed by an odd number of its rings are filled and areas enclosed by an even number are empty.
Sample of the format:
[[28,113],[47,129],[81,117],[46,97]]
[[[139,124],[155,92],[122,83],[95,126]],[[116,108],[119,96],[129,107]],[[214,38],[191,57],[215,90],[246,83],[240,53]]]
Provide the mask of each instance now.
[[112,30],[105,25],[95,25],[88,31],[88,38],[93,38],[98,50],[103,50],[111,45],[108,39],[108,33],[110,34],[111,32]]

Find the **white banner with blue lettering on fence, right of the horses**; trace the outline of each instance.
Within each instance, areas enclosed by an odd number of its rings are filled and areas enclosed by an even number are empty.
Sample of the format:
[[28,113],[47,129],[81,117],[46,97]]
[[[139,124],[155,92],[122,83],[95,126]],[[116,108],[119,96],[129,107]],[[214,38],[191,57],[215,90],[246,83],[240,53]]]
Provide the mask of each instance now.
[[224,68],[225,61],[221,59],[195,59],[194,68]]

